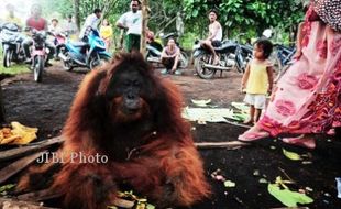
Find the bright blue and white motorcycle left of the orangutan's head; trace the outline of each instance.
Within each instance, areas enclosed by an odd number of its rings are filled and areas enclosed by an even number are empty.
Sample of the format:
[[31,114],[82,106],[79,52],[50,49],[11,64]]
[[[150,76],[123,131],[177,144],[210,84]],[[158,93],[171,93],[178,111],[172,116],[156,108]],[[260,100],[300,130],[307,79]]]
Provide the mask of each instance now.
[[99,32],[89,28],[85,34],[85,42],[70,42],[67,40],[62,44],[59,58],[63,61],[64,69],[73,70],[74,67],[95,67],[107,63],[111,55],[106,52],[106,44],[99,36]]

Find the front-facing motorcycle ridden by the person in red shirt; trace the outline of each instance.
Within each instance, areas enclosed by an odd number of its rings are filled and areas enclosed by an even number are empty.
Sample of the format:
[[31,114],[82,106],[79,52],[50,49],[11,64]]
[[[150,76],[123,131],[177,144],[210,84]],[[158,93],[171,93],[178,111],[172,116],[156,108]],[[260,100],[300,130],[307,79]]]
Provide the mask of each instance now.
[[33,38],[33,47],[31,48],[31,69],[33,69],[34,80],[41,82],[43,79],[44,66],[48,54],[46,52],[47,47],[45,44],[47,33],[45,31],[36,31],[34,29],[32,29],[31,32]]

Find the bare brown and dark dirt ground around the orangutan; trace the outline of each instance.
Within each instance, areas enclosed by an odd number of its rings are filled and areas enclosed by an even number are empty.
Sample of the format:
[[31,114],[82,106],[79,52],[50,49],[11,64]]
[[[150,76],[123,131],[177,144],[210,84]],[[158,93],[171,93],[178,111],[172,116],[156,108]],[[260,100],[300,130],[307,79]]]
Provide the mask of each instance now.
[[[58,135],[78,84],[86,72],[67,73],[54,66],[46,70],[43,82],[33,81],[31,74],[20,75],[2,80],[6,99],[7,121],[19,121],[29,127],[37,127],[38,140]],[[238,90],[241,74],[227,72],[204,80],[186,70],[183,76],[166,76],[182,89],[186,105],[190,99],[212,99],[220,108],[228,108],[232,101],[242,101],[243,95]],[[227,123],[193,123],[197,142],[234,141],[245,131]],[[279,208],[282,202],[267,191],[267,184],[258,180],[265,178],[274,183],[277,176],[293,179],[288,185],[292,190],[304,189],[315,199],[309,208],[341,208],[337,198],[336,177],[341,176],[341,140],[336,136],[317,135],[318,144],[314,151],[283,144],[278,139],[265,139],[238,150],[211,148],[200,150],[205,161],[207,177],[212,185],[210,199],[194,206],[194,209],[226,208]],[[283,155],[282,148],[298,154],[307,154],[302,161],[292,161]],[[3,147],[2,147],[3,148]],[[220,169],[235,187],[224,187],[222,182],[211,178],[211,173]],[[258,175],[255,174],[258,170]],[[308,187],[308,188],[307,188]]]

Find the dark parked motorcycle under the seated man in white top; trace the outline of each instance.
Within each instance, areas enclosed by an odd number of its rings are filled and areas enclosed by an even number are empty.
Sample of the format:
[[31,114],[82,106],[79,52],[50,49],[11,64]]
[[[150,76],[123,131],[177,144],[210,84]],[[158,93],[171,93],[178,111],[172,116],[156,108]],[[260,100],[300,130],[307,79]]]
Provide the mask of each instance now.
[[238,42],[223,41],[215,51],[219,57],[219,64],[213,65],[213,55],[201,46],[199,41],[194,45],[195,69],[200,78],[210,79],[218,70],[220,76],[223,70],[231,70],[234,67],[239,73],[244,73],[248,62],[252,58],[252,46],[243,45]]

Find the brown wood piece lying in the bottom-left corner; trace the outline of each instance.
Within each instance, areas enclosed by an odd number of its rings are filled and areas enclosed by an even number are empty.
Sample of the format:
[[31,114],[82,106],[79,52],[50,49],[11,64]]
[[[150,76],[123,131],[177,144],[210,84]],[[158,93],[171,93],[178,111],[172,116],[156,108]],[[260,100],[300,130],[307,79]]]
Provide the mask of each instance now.
[[38,202],[21,201],[12,198],[0,197],[0,208],[3,209],[53,209],[48,207],[43,207]]

